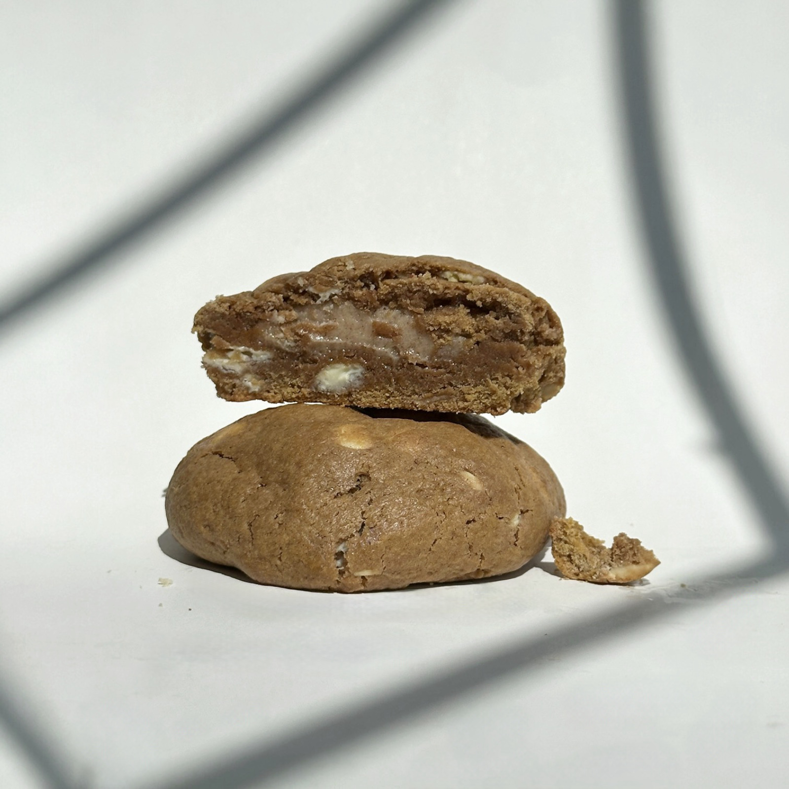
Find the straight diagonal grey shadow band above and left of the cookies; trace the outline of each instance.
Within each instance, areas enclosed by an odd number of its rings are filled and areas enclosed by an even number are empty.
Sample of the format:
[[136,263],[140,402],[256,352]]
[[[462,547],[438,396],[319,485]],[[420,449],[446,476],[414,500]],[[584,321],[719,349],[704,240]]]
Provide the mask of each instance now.
[[[253,155],[259,155],[309,114],[318,110],[336,95],[340,88],[380,59],[387,50],[417,24],[424,22],[428,12],[438,6],[447,6],[456,0],[406,0],[381,21],[376,28],[349,50],[339,54],[327,65],[320,75],[296,92],[282,106],[267,113],[235,140],[204,162],[192,173],[163,189],[159,196],[150,200],[143,208],[108,230],[96,235],[92,241],[77,249],[54,266],[54,271],[41,282],[29,286],[17,294],[6,305],[0,305],[0,329],[12,320],[17,320],[32,308],[42,305],[65,286],[84,278],[90,271],[107,266],[114,256],[134,241],[140,241],[183,211],[195,200],[204,196],[209,189],[219,186],[241,166],[249,163]],[[50,268],[47,266],[47,268]]]

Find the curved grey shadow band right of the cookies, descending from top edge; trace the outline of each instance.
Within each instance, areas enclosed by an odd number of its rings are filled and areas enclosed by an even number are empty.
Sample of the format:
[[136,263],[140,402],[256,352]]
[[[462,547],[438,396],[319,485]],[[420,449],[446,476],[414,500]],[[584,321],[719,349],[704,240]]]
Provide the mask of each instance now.
[[686,376],[716,428],[720,445],[776,548],[789,551],[789,502],[746,424],[701,323],[667,197],[665,167],[655,122],[645,3],[615,0],[625,147],[649,269]]

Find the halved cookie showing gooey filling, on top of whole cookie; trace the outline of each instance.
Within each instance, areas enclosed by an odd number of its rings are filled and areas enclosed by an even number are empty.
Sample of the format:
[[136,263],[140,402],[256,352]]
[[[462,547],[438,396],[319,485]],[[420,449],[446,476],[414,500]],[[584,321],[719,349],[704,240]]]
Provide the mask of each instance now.
[[332,258],[217,297],[193,331],[226,400],[499,414],[564,383],[548,302],[451,257]]

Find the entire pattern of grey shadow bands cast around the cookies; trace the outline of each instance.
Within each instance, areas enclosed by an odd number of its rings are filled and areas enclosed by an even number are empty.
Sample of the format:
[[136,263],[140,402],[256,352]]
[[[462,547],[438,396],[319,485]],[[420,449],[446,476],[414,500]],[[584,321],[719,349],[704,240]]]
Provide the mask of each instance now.
[[[371,65],[384,50],[402,39],[409,29],[424,21],[429,10],[448,4],[448,0],[433,0],[406,2],[399,6],[368,39],[342,54],[323,77],[264,118],[241,140],[235,140],[222,155],[205,163],[185,181],[164,190],[162,197],[128,222],[97,237],[81,252],[65,257],[50,279],[21,294],[17,301],[0,312],[0,327],[11,320],[31,316],[34,307],[44,305],[66,287],[73,288],[80,282],[86,282],[84,275],[89,271],[109,265],[121,249],[159,228],[166,219],[214,189],[234,170],[249,163],[252,155],[264,152],[295,123],[305,121],[316,107]],[[337,753],[374,735],[381,735],[394,726],[406,724],[441,705],[468,697],[492,683],[525,671],[539,671],[540,662],[547,657],[590,647],[637,626],[666,619],[678,609],[667,601],[682,598],[688,603],[701,603],[712,598],[725,598],[789,569],[789,503],[780,481],[753,438],[742,409],[712,352],[690,287],[686,257],[667,199],[650,70],[649,6],[646,0],[609,0],[609,8],[616,50],[624,151],[638,208],[636,219],[644,241],[645,262],[655,282],[656,295],[673,337],[679,363],[716,429],[742,492],[750,501],[768,538],[770,548],[767,555],[733,572],[710,575],[686,588],[671,590],[667,599],[643,599],[636,604],[627,604],[580,625],[567,626],[552,636],[529,636],[504,649],[447,667],[438,674],[417,678],[406,686],[387,690],[359,705],[332,713],[323,720],[287,731],[271,742],[230,754],[190,776],[163,781],[156,785],[156,789],[236,789],[263,785],[327,753]],[[79,783],[69,778],[62,766],[62,758],[24,715],[17,694],[2,684],[2,678],[0,720],[48,786],[77,789]]]

